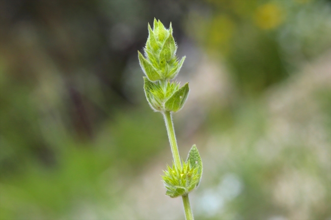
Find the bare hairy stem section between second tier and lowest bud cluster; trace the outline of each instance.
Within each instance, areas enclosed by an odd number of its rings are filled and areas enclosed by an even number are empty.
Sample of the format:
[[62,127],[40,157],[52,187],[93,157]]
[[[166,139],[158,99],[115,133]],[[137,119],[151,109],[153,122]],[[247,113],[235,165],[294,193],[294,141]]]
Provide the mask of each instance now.
[[178,147],[177,147],[177,141],[176,141],[176,136],[175,136],[172,115],[171,115],[170,111],[165,111],[163,113],[163,115],[164,115],[164,121],[166,121],[166,127],[167,127],[169,142],[170,142],[170,146],[171,146],[171,151],[173,153],[175,166],[178,168],[182,168],[182,164],[180,162],[180,157],[179,157],[179,152],[178,152]]

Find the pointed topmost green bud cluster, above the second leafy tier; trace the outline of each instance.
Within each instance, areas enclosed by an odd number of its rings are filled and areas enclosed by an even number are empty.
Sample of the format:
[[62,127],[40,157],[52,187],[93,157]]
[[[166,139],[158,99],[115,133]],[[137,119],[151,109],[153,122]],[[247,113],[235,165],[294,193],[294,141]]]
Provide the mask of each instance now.
[[183,65],[185,56],[180,61],[177,59],[177,45],[172,32],[171,23],[169,29],[155,18],[153,29],[148,24],[149,35],[144,48],[146,58],[139,51],[138,53],[140,66],[152,82],[174,79]]

